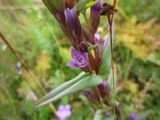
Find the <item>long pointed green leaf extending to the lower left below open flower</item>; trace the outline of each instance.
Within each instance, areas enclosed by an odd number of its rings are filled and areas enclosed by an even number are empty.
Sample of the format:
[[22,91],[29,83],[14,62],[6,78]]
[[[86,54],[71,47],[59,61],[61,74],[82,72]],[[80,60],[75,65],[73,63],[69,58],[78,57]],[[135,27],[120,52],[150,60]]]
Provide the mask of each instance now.
[[63,83],[55,90],[51,91],[45,97],[43,97],[40,101],[38,101],[35,107],[39,107],[45,105],[51,101],[55,101],[65,95],[69,95],[71,93],[75,93],[80,90],[84,90],[89,87],[93,87],[99,85],[102,82],[102,78],[95,74],[78,77],[78,79],[71,80],[69,82]]

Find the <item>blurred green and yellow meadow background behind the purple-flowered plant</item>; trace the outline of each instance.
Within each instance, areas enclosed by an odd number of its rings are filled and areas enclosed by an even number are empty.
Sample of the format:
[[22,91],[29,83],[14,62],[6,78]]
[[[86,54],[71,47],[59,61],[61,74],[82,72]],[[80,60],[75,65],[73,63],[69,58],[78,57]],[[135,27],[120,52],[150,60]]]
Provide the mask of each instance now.
[[[160,119],[160,1],[119,0],[115,17],[114,58],[118,70],[118,100],[124,115],[153,110],[146,120]],[[106,29],[102,19],[100,30]],[[36,75],[46,92],[80,70],[66,67],[70,44],[40,0],[0,0],[0,32]],[[54,120],[46,105],[33,109],[43,95],[34,80],[0,39],[0,120]],[[70,104],[69,120],[92,120],[81,92],[54,102]],[[83,111],[83,112],[82,112]]]

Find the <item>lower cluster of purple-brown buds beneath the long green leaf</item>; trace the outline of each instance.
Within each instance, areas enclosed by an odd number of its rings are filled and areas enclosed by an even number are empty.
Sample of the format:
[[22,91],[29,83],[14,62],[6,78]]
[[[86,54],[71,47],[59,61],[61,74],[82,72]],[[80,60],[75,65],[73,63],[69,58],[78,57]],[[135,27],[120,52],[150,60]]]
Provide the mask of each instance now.
[[104,106],[110,108],[104,112],[106,118],[110,117],[112,113],[115,112],[116,120],[121,120],[120,104],[118,102],[115,104],[112,103],[110,91],[111,89],[107,81],[104,80],[100,85],[92,88],[90,91],[85,90],[84,95],[87,97],[88,101],[95,110],[103,109]]

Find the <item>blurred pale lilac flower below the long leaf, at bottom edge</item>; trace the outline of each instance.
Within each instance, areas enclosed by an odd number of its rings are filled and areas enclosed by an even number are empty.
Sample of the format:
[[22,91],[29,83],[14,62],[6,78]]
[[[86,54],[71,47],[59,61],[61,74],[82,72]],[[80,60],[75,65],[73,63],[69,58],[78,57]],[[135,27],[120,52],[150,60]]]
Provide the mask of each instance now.
[[66,120],[66,118],[70,117],[71,115],[72,113],[70,105],[60,105],[58,111],[56,112],[58,120]]

